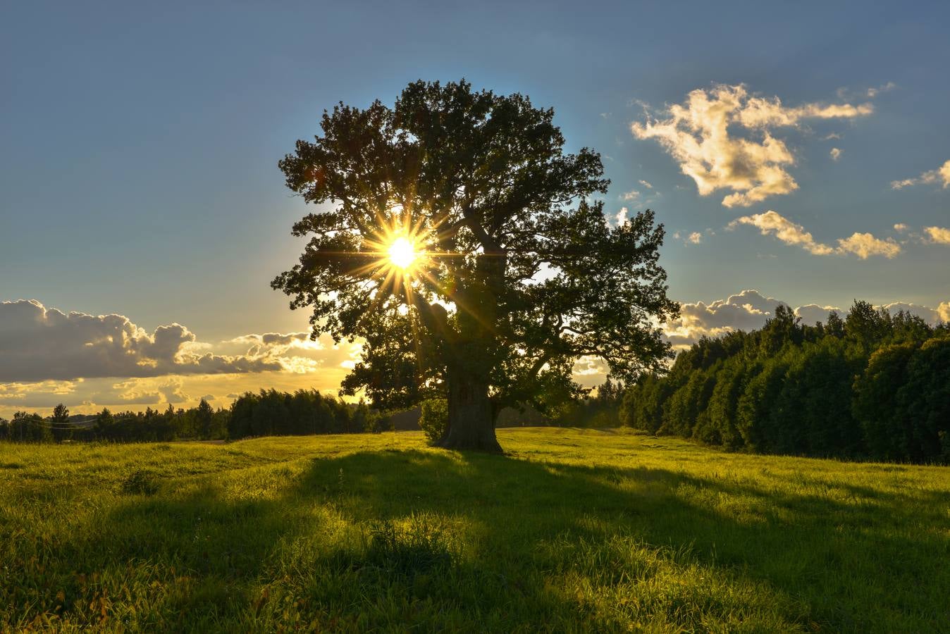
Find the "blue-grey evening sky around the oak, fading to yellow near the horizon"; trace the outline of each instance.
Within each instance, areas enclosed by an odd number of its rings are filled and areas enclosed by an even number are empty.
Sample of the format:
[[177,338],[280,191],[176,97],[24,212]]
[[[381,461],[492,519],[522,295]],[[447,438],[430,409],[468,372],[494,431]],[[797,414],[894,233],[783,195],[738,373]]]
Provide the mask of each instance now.
[[[333,103],[392,103],[410,81],[465,77],[553,106],[568,149],[604,157],[611,214],[656,210],[668,229],[671,296],[681,302],[736,304],[728,298],[743,289],[792,307],[862,298],[939,310],[950,301],[950,245],[926,233],[950,227],[940,174],[950,159],[945,4],[200,4],[5,9],[0,300],[117,313],[153,338],[156,327],[178,323],[194,333],[188,345],[220,355],[238,354],[225,342],[241,337],[304,330],[306,315],[269,287],[295,262],[300,244],[289,229],[305,213],[277,159],[316,134]],[[740,85],[748,94],[733,114],[756,98],[798,113],[788,125],[730,127],[735,140],[781,141],[791,157],[781,167],[797,188],[728,207],[734,179],[700,195],[675,147],[637,138],[631,125],[671,121],[668,107],[695,90]],[[842,104],[869,109],[803,114]],[[903,179],[914,183],[892,186]],[[621,199],[631,191],[638,195]],[[769,211],[788,224],[767,228]],[[855,233],[899,251],[875,254],[887,249],[878,245],[863,257],[838,242]],[[307,354],[310,370],[235,384],[338,381],[341,370]],[[142,404],[132,401],[172,384],[93,374],[47,378],[71,388],[0,376],[0,414],[39,407],[55,398],[48,394],[69,395],[75,407]],[[174,383],[179,398],[204,396],[205,385],[191,384],[201,375],[187,377]],[[223,378],[206,380],[209,395],[224,390]],[[151,383],[115,387],[135,381]],[[95,399],[92,383],[101,388]]]

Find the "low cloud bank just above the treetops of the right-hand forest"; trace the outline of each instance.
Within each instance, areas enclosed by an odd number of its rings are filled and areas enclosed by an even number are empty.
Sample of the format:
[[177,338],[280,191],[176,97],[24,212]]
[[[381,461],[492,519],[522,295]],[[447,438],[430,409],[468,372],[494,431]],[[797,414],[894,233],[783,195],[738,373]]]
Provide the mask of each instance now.
[[[666,339],[677,349],[693,345],[703,336],[718,337],[734,330],[752,330],[765,325],[766,320],[775,314],[779,305],[788,307],[788,303],[763,295],[758,290],[743,290],[724,300],[710,304],[703,302],[684,303],[680,306],[680,317],[663,326]],[[790,307],[789,307],[790,308]],[[888,310],[891,314],[904,310],[918,315],[925,322],[936,325],[940,321],[950,321],[950,302],[942,302],[937,308],[929,308],[907,302],[892,302],[876,308]],[[803,324],[813,326],[817,322],[826,323],[830,311],[838,312],[843,318],[847,309],[835,306],[806,304],[794,308],[795,314]]]

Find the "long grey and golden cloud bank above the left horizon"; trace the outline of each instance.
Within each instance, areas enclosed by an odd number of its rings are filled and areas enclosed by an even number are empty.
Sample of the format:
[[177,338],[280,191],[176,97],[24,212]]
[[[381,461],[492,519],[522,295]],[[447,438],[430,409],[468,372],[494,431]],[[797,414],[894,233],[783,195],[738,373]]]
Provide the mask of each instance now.
[[308,332],[198,341],[186,326],[147,332],[122,315],[92,316],[37,301],[0,303],[0,415],[63,402],[79,411],[227,401],[275,387],[336,391],[359,342]]

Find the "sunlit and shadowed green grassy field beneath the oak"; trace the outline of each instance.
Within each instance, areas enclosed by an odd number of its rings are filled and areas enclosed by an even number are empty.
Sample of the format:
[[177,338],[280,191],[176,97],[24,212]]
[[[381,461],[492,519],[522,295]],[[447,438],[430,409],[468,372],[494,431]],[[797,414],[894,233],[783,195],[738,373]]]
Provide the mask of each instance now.
[[0,444],[0,630],[950,631],[950,470],[625,431]]

